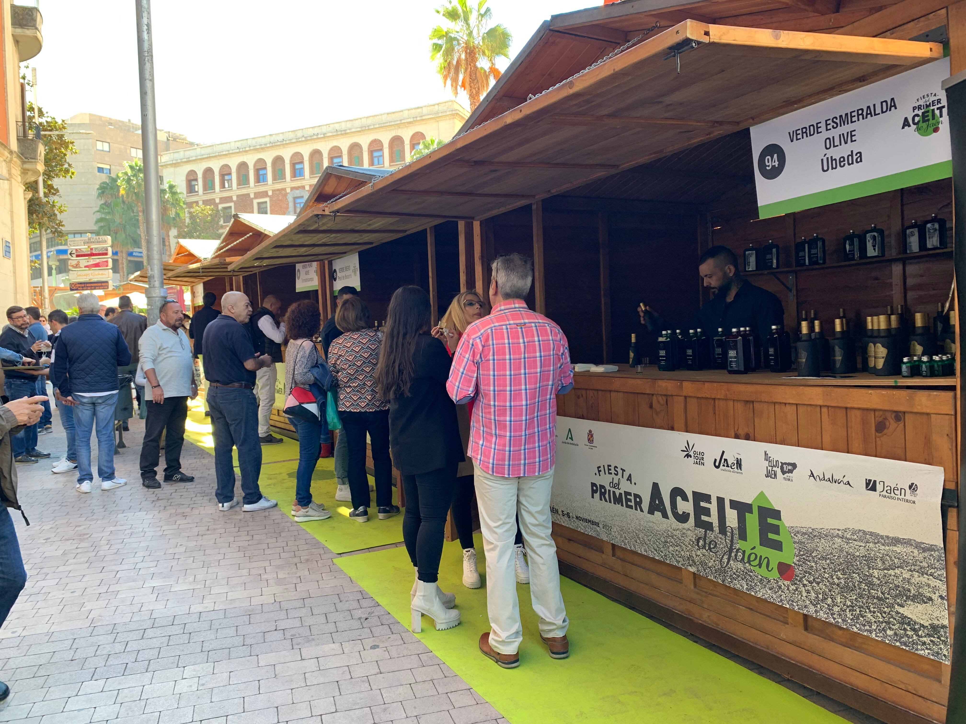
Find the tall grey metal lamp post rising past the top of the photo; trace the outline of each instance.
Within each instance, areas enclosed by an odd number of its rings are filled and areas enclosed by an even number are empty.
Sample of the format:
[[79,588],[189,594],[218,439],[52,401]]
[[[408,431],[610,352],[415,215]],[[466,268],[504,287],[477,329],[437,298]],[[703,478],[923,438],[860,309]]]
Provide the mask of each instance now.
[[[148,263],[148,323],[157,321],[167,291],[161,255],[161,187],[157,171],[157,121],[155,113],[155,53],[151,42],[151,0],[134,0],[137,13],[137,71],[141,86],[141,146],[144,150],[144,226],[142,239]],[[127,282],[122,279],[121,283]]]

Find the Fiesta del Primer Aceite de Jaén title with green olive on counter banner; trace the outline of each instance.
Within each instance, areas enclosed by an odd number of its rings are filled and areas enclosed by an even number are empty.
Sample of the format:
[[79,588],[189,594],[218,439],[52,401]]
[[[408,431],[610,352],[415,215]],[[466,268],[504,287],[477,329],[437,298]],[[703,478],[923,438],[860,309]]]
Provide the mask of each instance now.
[[[731,459],[731,464],[734,461]],[[578,519],[610,529],[611,525],[604,522],[614,519],[611,514],[614,509],[610,506],[634,515],[660,515],[668,521],[673,518],[678,525],[696,529],[696,549],[714,556],[722,569],[739,565],[765,578],[790,581],[795,577],[795,543],[781,520],[781,511],[772,505],[763,490],[749,503],[677,486],[662,489],[660,484],[652,482],[645,510],[644,496],[638,489],[629,468],[613,462],[597,465],[590,481],[590,499],[607,508],[601,509],[600,521]],[[737,525],[728,522],[728,511],[736,514]],[[559,511],[554,513],[569,517]]]

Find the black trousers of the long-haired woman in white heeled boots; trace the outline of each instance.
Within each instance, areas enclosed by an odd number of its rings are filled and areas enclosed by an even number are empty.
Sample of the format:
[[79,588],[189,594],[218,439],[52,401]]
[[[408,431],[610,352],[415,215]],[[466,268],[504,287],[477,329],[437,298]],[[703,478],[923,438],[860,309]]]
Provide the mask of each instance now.
[[455,485],[456,465],[420,475],[403,475],[403,541],[419,580],[426,583],[440,579],[442,538]]

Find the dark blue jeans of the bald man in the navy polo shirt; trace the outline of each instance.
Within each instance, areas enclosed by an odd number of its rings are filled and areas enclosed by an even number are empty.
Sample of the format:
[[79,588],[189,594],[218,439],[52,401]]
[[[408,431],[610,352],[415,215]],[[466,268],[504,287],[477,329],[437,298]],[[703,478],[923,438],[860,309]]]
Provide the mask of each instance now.
[[[214,436],[214,497],[219,503],[235,499],[235,466],[232,448],[239,451],[242,502],[262,499],[258,478],[262,474],[262,443],[258,439],[258,401],[255,393],[241,387],[209,385],[208,408],[212,411]],[[316,453],[318,455],[318,453]]]

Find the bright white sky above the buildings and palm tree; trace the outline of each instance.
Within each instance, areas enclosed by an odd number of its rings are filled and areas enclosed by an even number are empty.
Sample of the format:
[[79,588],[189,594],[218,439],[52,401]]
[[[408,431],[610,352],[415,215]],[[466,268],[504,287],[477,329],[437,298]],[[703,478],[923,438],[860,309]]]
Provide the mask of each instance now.
[[[552,14],[600,0],[490,0],[511,56]],[[155,0],[157,125],[211,143],[452,97],[429,59],[442,0]],[[138,123],[131,0],[40,0],[40,102]],[[506,67],[501,61],[501,68]],[[466,97],[461,102],[469,107]]]

